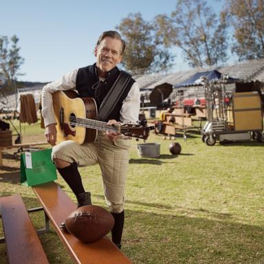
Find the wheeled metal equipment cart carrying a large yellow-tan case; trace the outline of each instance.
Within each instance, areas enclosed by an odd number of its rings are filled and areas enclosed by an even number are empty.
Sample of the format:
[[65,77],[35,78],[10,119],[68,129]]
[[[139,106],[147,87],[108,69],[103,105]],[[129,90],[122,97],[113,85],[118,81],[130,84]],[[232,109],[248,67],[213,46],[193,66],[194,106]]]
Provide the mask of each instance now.
[[[203,142],[208,146],[213,146],[217,141],[220,143],[243,140],[264,142],[261,98],[258,92],[227,94],[224,79],[211,82],[205,79],[204,88],[208,116],[206,124],[201,129]],[[250,108],[250,105],[247,107],[249,96],[258,100],[259,107]],[[257,98],[258,96],[259,98]],[[225,100],[227,98],[230,100],[229,102]],[[234,102],[238,107],[234,107]],[[245,105],[245,109],[241,107],[242,105]],[[228,118],[228,112],[234,116],[233,123]],[[250,122],[252,116],[256,116],[257,120],[254,122],[257,121],[258,124],[255,124],[256,122],[252,126],[245,124],[245,122]]]

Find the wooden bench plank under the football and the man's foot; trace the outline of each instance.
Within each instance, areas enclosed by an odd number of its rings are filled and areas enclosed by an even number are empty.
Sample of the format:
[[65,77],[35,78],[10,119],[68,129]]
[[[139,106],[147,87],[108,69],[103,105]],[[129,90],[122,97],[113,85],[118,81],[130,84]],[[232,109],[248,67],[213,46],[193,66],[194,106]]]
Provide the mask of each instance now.
[[76,203],[54,181],[34,186],[33,190],[75,263],[132,263],[106,236],[95,243],[82,243],[72,234],[61,230],[61,222],[76,209]]

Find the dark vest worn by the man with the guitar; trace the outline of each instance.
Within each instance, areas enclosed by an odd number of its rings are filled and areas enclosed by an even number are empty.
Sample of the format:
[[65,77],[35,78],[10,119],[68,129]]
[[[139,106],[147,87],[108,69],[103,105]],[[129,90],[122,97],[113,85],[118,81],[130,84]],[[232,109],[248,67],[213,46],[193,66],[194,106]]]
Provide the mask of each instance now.
[[[76,89],[80,97],[91,97],[96,100],[97,108],[100,108],[102,104],[102,100],[107,95],[107,92],[112,87],[115,79],[118,78],[118,74],[120,74],[120,70],[118,67],[114,67],[111,69],[110,72],[107,72],[107,78],[103,82],[99,81],[99,77],[97,74],[97,67],[96,64],[89,65],[87,67],[83,67],[78,69],[78,74],[76,78]],[[114,119],[120,121],[120,109],[122,107],[122,101],[126,98],[127,94],[129,93],[133,83],[135,80],[131,78],[129,85],[127,85],[126,89],[124,90],[120,100],[115,105],[115,108],[110,113],[107,122],[110,119]]]

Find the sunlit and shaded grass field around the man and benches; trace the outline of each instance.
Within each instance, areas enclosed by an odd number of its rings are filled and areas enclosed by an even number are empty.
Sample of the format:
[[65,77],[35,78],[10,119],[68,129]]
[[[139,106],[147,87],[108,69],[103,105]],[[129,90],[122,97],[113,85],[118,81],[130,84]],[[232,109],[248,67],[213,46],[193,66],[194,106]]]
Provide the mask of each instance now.
[[[151,133],[148,142],[160,142],[161,155],[148,159],[138,157],[133,140],[122,252],[138,264],[264,263],[263,144],[207,146],[199,135],[175,141],[181,155]],[[19,185],[18,169],[4,169],[1,195],[20,193],[28,208],[38,206],[31,188]],[[100,168],[80,173],[93,203],[105,208]],[[58,183],[75,199],[61,177]],[[43,215],[31,215],[41,228]],[[50,263],[72,263],[54,230],[41,241]],[[0,259],[7,263],[4,244]]]

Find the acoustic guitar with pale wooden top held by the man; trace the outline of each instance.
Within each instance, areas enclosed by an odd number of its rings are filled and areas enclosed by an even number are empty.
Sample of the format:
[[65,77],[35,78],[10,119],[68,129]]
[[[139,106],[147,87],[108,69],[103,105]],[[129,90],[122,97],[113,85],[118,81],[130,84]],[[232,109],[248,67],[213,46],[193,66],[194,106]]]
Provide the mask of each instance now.
[[95,142],[98,130],[146,140],[152,129],[141,124],[109,125],[96,120],[98,111],[94,98],[80,98],[73,90],[56,91],[52,99],[58,143],[65,140],[74,140],[78,144]]

